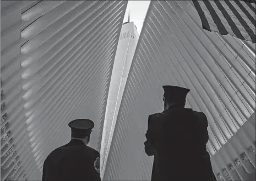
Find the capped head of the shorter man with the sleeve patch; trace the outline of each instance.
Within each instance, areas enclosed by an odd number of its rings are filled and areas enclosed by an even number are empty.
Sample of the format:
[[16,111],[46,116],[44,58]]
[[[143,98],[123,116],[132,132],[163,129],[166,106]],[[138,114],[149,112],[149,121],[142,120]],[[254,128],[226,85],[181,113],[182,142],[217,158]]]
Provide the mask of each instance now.
[[87,145],[90,141],[94,122],[90,119],[75,119],[68,124],[71,128],[71,139],[81,140]]

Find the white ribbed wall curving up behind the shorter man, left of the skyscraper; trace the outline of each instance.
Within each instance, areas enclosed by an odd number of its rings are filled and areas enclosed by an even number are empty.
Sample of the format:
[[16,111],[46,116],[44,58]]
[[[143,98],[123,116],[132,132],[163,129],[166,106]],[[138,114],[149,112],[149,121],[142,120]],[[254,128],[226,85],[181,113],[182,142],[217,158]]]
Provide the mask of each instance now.
[[1,1],[1,180],[41,180],[68,122],[100,150],[127,1]]

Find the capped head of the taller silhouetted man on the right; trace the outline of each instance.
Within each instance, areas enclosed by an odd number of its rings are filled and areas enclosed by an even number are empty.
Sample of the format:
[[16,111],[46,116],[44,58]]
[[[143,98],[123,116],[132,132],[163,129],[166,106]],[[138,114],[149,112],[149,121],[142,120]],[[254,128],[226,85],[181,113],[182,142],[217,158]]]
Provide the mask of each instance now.
[[171,85],[164,85],[164,109],[168,109],[170,106],[178,106],[184,107],[186,105],[186,97],[189,89],[178,87],[178,86],[171,86]]

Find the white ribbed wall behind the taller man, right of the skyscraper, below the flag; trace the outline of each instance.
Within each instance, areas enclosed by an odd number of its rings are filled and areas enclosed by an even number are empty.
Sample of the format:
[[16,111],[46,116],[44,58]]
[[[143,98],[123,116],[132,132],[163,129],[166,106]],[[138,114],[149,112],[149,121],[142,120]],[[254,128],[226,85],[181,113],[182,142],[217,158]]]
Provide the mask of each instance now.
[[255,180],[255,44],[201,29],[191,1],[151,1],[104,180],[150,180],[153,157],[144,151],[145,133],[149,114],[163,111],[162,85],[190,89],[186,107],[208,117],[216,177]]

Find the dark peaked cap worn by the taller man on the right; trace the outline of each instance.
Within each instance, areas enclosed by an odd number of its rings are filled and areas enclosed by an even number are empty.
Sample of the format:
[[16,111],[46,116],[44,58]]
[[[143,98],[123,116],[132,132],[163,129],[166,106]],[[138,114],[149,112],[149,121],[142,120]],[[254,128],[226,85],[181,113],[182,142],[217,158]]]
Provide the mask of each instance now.
[[172,85],[164,85],[162,87],[165,91],[164,97],[170,102],[185,101],[187,94],[190,91],[189,89]]

